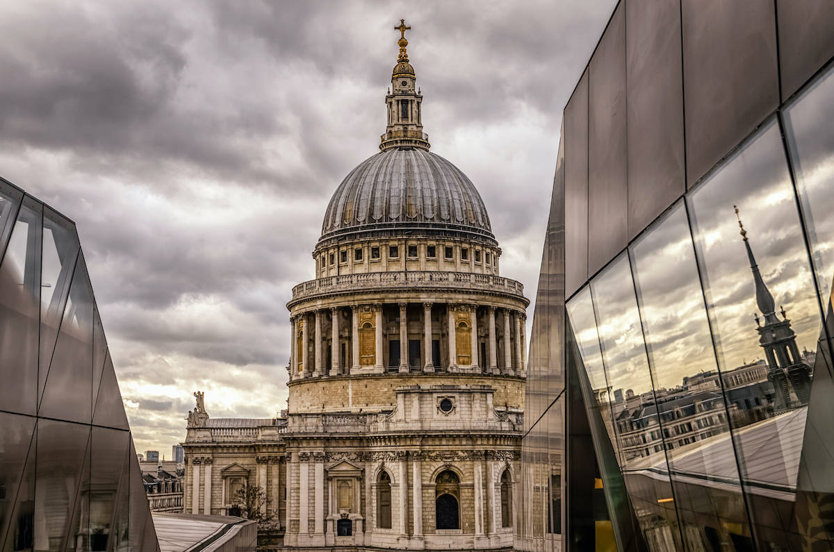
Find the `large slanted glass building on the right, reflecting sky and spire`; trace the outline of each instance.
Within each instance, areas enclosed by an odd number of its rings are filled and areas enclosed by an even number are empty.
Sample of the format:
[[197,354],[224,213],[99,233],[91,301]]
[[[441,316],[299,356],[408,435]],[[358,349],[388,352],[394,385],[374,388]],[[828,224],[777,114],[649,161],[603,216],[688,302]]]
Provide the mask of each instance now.
[[621,0],[565,106],[515,547],[834,549],[834,3]]

